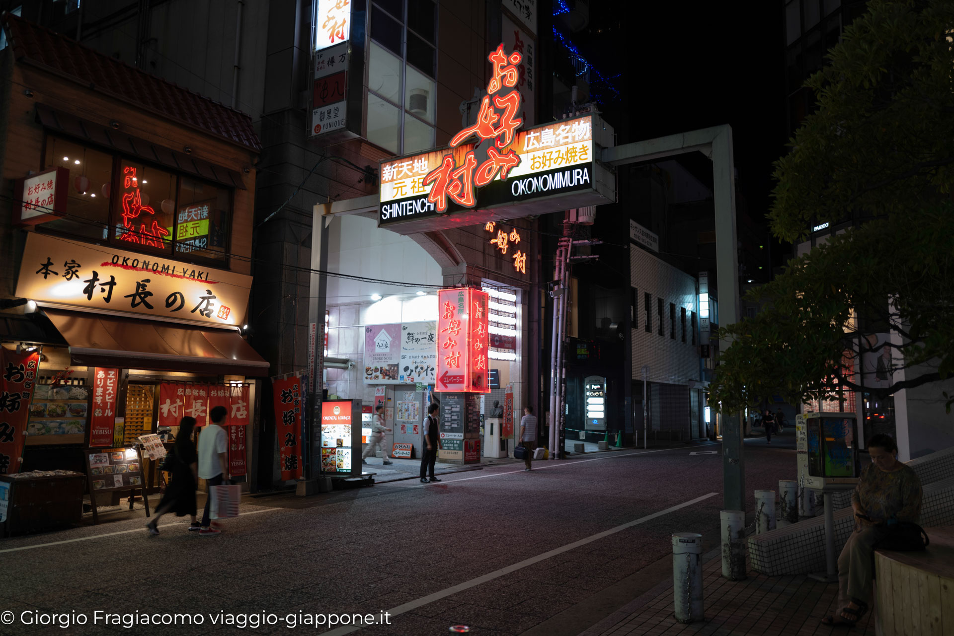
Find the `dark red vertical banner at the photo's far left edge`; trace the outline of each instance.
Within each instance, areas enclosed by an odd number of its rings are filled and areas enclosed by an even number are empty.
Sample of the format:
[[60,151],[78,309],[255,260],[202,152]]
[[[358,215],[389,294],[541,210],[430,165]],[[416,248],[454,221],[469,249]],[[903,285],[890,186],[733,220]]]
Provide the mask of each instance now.
[[0,347],[0,475],[20,470],[40,352]]

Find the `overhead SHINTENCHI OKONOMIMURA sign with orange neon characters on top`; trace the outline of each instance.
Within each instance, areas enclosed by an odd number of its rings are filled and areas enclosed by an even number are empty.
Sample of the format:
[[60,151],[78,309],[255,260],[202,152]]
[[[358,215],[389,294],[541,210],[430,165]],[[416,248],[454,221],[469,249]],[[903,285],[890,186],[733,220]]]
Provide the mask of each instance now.
[[412,234],[615,201],[615,177],[595,156],[612,130],[597,114],[518,130],[521,54],[500,45],[487,59],[473,125],[448,148],[382,162],[379,227]]

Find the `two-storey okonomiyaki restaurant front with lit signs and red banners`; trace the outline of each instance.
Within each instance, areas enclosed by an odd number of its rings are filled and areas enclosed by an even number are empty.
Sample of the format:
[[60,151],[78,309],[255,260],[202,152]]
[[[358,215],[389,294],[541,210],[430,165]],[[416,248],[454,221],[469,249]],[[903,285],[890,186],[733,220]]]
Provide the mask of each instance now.
[[4,107],[18,114],[4,140],[0,344],[35,369],[0,472],[80,471],[97,502],[141,493],[162,454],[143,436],[172,441],[182,417],[202,426],[221,405],[233,477],[252,482],[269,364],[243,338],[251,119],[9,13],[4,28]]

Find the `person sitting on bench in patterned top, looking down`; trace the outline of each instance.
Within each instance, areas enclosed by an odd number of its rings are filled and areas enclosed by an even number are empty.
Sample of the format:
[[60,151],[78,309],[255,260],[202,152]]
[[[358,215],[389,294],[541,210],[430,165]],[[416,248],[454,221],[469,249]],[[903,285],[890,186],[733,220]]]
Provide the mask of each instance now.
[[838,559],[839,615],[822,619],[824,625],[853,626],[868,610],[873,553],[892,525],[917,522],[921,513],[921,480],[909,466],[898,461],[898,444],[890,435],[875,435],[868,441],[871,464],[851,495],[855,531]]

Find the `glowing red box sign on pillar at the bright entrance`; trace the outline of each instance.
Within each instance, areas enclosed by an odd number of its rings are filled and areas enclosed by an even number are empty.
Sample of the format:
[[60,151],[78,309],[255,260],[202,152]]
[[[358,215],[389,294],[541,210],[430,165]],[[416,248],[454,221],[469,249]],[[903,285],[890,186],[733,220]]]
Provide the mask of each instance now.
[[438,292],[436,391],[489,393],[487,292]]

